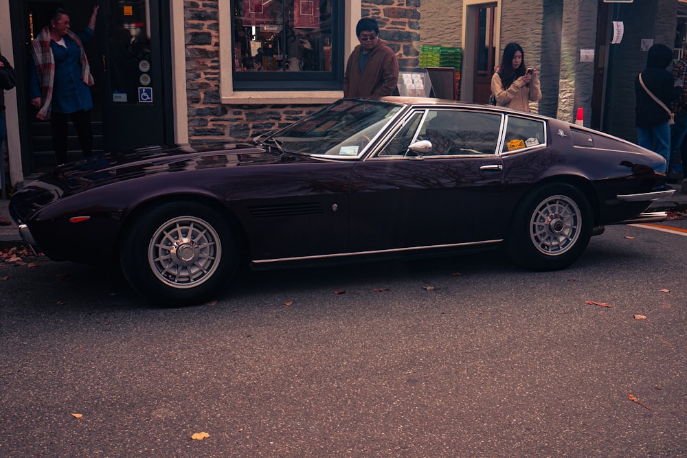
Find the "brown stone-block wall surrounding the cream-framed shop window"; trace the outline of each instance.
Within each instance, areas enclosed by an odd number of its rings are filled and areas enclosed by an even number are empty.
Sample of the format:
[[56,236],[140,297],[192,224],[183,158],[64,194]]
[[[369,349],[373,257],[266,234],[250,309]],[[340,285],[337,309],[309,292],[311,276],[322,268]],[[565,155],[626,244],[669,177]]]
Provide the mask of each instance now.
[[[345,0],[341,0],[345,1]],[[380,37],[401,68],[416,68],[420,56],[420,0],[368,0],[361,15],[379,22]],[[203,139],[246,139],[304,117],[313,105],[228,105],[219,96],[218,5],[216,0],[184,1],[188,135]],[[229,20],[223,18],[222,20]],[[230,45],[226,43],[225,45]],[[348,58],[348,56],[346,56]],[[229,71],[229,69],[225,69]]]

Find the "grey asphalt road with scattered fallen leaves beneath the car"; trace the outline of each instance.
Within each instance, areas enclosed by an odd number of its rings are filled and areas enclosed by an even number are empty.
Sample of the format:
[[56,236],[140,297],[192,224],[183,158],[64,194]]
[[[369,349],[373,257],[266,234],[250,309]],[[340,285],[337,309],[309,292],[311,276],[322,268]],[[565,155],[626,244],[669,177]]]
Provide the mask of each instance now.
[[687,456],[684,253],[609,227],[565,271],[249,273],[167,309],[115,271],[0,262],[0,455]]

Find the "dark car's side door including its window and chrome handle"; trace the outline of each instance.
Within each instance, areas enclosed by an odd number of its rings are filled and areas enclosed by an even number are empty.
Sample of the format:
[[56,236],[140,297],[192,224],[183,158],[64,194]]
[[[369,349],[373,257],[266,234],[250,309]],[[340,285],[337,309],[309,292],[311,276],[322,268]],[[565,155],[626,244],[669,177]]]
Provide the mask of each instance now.
[[[469,108],[409,113],[372,157],[354,166],[350,234],[354,251],[498,240],[503,116]],[[428,140],[431,151],[408,150]]]

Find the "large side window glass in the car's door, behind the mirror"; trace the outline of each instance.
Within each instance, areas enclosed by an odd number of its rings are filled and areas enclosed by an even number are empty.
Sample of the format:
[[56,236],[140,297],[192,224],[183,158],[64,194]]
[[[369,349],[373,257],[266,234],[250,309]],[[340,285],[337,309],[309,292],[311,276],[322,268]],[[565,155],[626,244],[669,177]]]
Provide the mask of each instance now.
[[501,115],[497,113],[433,110],[420,135],[432,144],[426,156],[495,154],[500,128]]

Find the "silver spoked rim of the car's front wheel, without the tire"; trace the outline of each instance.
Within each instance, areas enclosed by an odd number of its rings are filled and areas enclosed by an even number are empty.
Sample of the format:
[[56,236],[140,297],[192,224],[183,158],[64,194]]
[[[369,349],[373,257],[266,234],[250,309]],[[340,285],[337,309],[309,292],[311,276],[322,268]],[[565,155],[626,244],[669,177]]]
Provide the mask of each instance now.
[[172,218],[150,238],[148,263],[155,277],[172,288],[195,288],[210,279],[220,264],[222,243],[201,218]]

